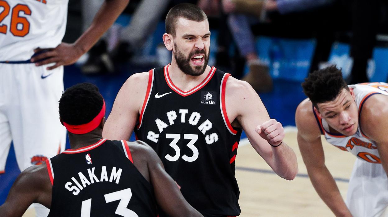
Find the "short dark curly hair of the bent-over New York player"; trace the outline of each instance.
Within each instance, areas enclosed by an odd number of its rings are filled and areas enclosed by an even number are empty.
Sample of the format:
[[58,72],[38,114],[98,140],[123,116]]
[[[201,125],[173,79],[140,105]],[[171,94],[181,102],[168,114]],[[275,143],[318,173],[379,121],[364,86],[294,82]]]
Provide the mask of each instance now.
[[328,66],[310,73],[302,83],[303,92],[307,95],[315,108],[317,103],[333,101],[342,91],[349,90],[342,77],[341,68]]

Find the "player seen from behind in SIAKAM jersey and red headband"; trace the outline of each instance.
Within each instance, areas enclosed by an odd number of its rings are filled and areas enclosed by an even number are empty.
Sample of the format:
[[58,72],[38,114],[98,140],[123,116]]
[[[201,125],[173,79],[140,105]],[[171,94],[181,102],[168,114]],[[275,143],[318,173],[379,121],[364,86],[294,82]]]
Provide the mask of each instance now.
[[31,203],[49,216],[202,216],[180,193],[163,164],[141,141],[102,139],[105,102],[98,88],[80,83],[59,101],[71,149],[24,170],[12,186],[2,216],[22,216]]

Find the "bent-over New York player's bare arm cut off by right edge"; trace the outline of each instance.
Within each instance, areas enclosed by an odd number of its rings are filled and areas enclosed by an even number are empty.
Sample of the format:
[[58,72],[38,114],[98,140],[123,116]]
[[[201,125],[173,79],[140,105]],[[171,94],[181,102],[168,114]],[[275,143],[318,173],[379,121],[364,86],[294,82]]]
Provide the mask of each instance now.
[[388,96],[372,95],[365,101],[360,118],[362,131],[376,143],[388,175]]

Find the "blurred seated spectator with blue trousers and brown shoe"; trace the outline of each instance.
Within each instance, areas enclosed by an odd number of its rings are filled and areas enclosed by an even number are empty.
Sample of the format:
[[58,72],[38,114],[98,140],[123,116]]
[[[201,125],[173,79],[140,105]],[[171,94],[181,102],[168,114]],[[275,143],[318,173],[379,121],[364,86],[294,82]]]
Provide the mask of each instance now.
[[[246,58],[249,71],[242,80],[247,81],[258,92],[272,89],[268,62],[257,56],[255,36],[251,25],[264,22],[267,11],[279,10],[281,14],[314,9],[328,5],[333,0],[222,0],[223,10],[229,14],[228,23],[241,55]],[[258,79],[260,78],[260,79]]]

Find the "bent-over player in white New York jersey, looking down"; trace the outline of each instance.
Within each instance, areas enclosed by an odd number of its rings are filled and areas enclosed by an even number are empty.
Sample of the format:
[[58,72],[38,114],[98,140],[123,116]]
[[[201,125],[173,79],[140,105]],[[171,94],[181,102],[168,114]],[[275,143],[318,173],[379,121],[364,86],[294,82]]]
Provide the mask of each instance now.
[[[296,109],[298,143],[310,180],[336,216],[388,216],[388,84],[346,85],[336,66],[302,83]],[[321,136],[357,156],[346,203],[325,166]]]

